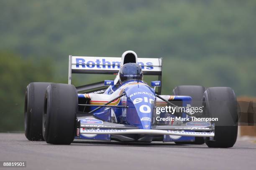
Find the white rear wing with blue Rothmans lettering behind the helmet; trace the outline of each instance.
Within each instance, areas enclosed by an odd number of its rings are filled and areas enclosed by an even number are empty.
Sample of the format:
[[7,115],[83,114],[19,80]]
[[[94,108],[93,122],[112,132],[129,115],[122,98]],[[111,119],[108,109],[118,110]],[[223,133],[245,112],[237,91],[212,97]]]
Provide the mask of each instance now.
[[[118,73],[121,57],[82,57],[69,55],[69,84],[72,83],[72,73],[78,74],[114,74]],[[161,81],[162,58],[138,58],[144,75],[158,75]],[[80,86],[80,91],[83,89]],[[90,90],[87,88],[87,90]],[[159,88],[161,93],[161,88]]]

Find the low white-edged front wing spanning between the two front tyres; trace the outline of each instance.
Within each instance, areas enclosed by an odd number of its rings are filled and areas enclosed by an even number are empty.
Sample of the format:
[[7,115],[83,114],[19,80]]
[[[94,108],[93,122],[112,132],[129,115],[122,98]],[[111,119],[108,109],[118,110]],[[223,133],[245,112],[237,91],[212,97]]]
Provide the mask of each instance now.
[[[150,130],[138,129],[133,125],[124,125],[105,122],[94,117],[92,114],[77,114],[77,137],[81,134],[95,135],[125,135],[125,134],[148,134],[148,135],[177,135],[187,137],[214,137],[214,127],[194,127],[182,125],[154,125]],[[87,121],[82,121],[87,120]],[[81,122],[82,121],[82,122]]]

